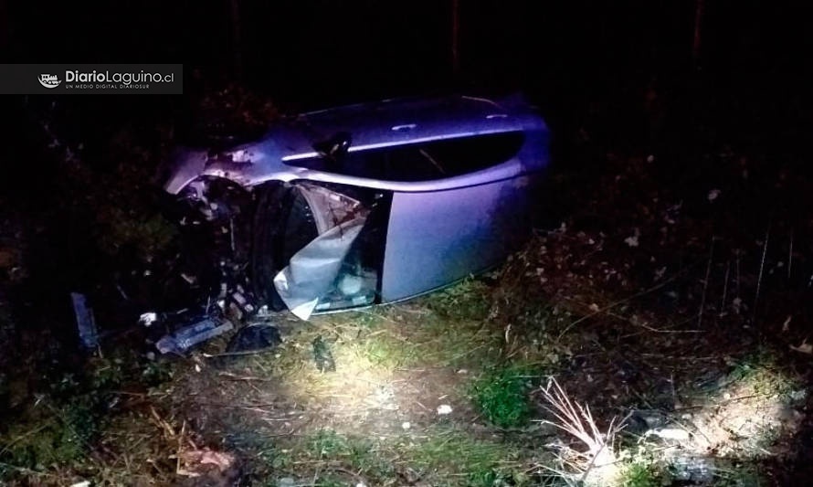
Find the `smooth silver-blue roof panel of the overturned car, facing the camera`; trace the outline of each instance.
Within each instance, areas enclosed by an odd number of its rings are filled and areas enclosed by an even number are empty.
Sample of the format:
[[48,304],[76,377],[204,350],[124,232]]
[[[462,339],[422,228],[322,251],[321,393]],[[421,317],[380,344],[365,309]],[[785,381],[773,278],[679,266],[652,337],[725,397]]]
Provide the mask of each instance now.
[[487,270],[517,249],[530,228],[532,177],[394,193],[382,302],[403,300]]

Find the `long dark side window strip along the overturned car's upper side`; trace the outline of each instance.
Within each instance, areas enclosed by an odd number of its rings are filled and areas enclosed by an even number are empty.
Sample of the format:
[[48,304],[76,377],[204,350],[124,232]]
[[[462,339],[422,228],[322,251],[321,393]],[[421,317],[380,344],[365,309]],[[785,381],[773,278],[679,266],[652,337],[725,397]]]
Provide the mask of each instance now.
[[334,159],[313,157],[290,164],[318,171],[386,181],[415,182],[464,175],[502,164],[519,152],[523,132],[474,135],[429,143],[354,151]]

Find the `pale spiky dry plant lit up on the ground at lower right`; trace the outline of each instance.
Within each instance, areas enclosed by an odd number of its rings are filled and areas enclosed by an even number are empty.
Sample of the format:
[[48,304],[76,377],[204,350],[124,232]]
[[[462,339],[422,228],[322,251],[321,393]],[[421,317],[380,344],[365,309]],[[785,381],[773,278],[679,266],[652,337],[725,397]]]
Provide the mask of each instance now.
[[[607,432],[602,433],[596,425],[590,407],[572,401],[567,396],[565,389],[556,382],[556,379],[552,377],[547,386],[540,387],[540,390],[542,397],[549,405],[544,408],[556,418],[556,421],[545,419],[543,422],[565,431],[587,447],[584,451],[570,447],[560,450],[559,460],[570,467],[572,471],[575,471],[575,475],[567,475],[570,480],[580,477],[577,483],[584,483],[593,469],[618,462],[613,452],[613,442],[618,432],[626,426],[629,416],[622,418],[620,421],[618,421],[618,417],[612,418],[607,427]],[[563,471],[555,472],[560,475],[565,473]],[[611,475],[610,472],[601,472],[598,477],[603,481],[607,481],[607,474]],[[563,478],[565,478],[565,475],[563,475]],[[565,480],[567,479],[565,478]]]

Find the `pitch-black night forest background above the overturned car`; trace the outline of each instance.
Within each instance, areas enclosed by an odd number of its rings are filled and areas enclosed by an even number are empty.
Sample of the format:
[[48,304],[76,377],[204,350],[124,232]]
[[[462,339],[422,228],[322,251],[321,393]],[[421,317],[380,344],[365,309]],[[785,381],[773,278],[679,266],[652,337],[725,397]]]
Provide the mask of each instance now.
[[[664,119],[680,129],[700,105],[719,130],[754,142],[808,119],[807,25],[795,3],[731,0],[4,1],[0,61],[182,62],[190,95],[239,79],[296,109],[521,89],[554,128],[600,120],[616,143]],[[77,117],[110,120],[191,97],[178,98],[73,102]]]

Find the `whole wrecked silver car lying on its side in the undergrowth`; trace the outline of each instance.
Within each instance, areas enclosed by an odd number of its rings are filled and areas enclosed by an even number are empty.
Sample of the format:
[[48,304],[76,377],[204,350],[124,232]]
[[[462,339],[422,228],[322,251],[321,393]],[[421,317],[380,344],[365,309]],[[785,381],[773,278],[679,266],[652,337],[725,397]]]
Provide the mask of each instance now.
[[519,95],[378,101],[179,148],[164,189],[193,210],[181,224],[217,249],[188,281],[240,313],[307,319],[499,263],[530,229],[548,146]]

